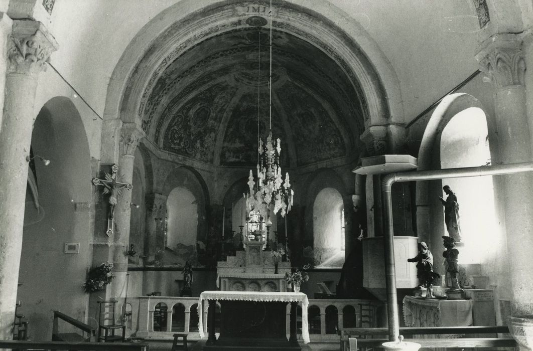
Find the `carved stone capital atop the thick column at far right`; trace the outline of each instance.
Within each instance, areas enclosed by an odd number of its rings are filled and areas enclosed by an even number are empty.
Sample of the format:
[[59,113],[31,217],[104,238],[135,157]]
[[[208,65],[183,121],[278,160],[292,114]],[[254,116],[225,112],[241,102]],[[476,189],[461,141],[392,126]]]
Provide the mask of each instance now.
[[475,55],[480,70],[497,88],[524,85],[526,62],[522,45],[522,38],[511,33],[495,34],[480,45]]

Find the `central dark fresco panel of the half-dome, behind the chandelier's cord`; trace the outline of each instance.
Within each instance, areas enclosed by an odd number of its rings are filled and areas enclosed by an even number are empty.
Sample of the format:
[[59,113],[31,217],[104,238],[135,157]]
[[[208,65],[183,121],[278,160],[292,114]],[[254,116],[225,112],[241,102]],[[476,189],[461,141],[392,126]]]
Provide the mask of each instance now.
[[[266,140],[269,128],[269,96],[260,97],[260,133]],[[272,134],[281,138],[282,167],[288,166],[287,139],[282,132],[281,118],[272,107]],[[255,165],[257,164],[257,95],[248,93],[241,96],[233,109],[224,134],[224,142],[220,153],[223,165]]]

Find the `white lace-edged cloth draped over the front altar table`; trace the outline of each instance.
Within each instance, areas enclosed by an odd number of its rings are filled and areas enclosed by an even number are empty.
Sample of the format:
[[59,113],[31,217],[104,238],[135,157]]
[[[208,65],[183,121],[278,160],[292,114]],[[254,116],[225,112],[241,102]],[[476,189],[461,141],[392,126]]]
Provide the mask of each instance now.
[[302,337],[305,344],[309,342],[309,324],[307,309],[309,300],[303,292],[270,292],[270,291],[204,291],[198,300],[198,330],[200,338],[205,338],[204,330],[204,301],[257,301],[257,302],[297,302],[302,304]]

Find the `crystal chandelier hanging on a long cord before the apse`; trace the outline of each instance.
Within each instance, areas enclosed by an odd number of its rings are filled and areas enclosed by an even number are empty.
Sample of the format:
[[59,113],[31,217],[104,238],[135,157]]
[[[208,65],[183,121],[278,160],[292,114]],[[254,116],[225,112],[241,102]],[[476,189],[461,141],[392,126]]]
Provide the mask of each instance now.
[[[250,188],[246,198],[247,217],[252,211],[258,211],[263,218],[266,218],[266,224],[271,224],[270,210],[275,214],[280,212],[281,217],[285,217],[293,204],[294,191],[290,189],[289,174],[285,174],[285,180],[281,176],[281,167],[279,166],[279,156],[281,153],[281,140],[276,141],[272,137],[272,2],[270,3],[270,75],[269,75],[269,134],[266,142],[263,143],[259,137],[259,101],[258,101],[258,143],[257,149],[257,173],[254,178],[252,170],[248,177],[248,186]],[[259,40],[261,45],[261,40]],[[261,46],[260,46],[261,60]],[[261,65],[259,65],[261,70]],[[258,81],[259,88],[259,81]],[[259,94],[259,91],[258,91]],[[259,96],[258,96],[259,100]]]

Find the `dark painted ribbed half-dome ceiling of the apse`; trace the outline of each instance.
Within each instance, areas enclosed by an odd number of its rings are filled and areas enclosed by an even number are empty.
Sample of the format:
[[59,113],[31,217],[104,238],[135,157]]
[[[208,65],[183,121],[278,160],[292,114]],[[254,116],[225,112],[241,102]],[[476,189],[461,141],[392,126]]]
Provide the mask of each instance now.
[[[161,72],[142,115],[160,149],[214,165],[255,164],[258,116],[261,137],[269,130],[270,65],[269,30],[255,21],[205,39]],[[354,84],[316,46],[273,31],[271,128],[282,165],[359,153],[364,123]]]

